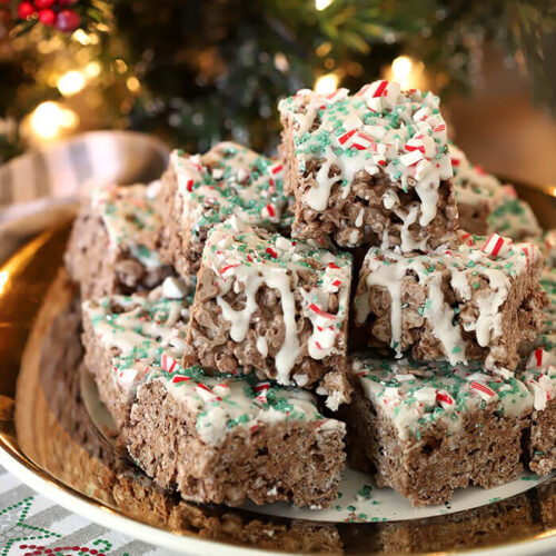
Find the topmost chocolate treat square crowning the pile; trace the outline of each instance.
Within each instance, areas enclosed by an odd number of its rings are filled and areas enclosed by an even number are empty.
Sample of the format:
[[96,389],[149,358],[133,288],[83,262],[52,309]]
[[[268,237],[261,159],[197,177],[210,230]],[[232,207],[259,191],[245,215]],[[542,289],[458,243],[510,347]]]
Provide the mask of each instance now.
[[278,105],[292,236],[427,250],[458,227],[438,97],[375,81],[356,95],[302,89]]

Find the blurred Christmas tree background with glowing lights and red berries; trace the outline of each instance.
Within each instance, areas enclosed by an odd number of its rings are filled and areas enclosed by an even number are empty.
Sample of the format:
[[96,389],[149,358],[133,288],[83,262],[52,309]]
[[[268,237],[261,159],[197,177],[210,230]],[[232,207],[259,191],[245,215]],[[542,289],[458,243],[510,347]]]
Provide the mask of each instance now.
[[555,62],[552,0],[0,0],[0,162],[91,129],[272,152],[280,97],[385,77],[441,95],[471,161],[556,183]]

